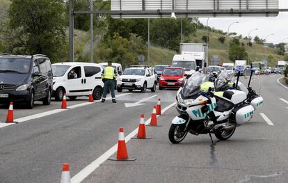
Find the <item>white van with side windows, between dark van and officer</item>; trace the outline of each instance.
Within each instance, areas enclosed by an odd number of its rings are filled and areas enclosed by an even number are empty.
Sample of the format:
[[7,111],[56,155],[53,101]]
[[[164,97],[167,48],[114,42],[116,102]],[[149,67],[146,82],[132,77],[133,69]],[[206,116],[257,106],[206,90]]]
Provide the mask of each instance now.
[[79,96],[88,96],[92,90],[93,99],[100,100],[104,83],[101,79],[103,67],[97,63],[54,63],[53,72],[53,92],[52,97],[56,100],[63,100],[66,93],[70,100],[75,100]]

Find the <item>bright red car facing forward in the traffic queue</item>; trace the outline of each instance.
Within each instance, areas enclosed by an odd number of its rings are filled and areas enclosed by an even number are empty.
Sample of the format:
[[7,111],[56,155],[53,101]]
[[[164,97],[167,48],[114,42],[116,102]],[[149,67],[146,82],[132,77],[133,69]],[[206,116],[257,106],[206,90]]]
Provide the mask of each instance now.
[[186,74],[182,67],[166,67],[159,78],[159,90],[184,86]]

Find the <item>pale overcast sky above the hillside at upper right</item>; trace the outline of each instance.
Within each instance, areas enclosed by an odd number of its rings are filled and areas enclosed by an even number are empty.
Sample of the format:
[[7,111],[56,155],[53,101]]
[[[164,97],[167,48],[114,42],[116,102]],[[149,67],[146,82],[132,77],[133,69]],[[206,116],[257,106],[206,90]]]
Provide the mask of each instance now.
[[[288,0],[279,0],[279,8],[288,8]],[[207,24],[207,18],[199,19],[202,24]],[[209,18],[209,26],[216,29],[221,29],[227,32],[228,26],[232,22],[239,22],[239,24],[233,24],[230,26],[229,32],[235,32],[243,37],[248,36],[248,33],[252,29],[258,29],[252,31],[250,36],[252,38],[258,35],[260,38],[265,39],[269,35],[266,42],[273,42],[278,44],[282,42],[288,42],[288,12],[279,13],[277,17],[257,17],[257,18]]]

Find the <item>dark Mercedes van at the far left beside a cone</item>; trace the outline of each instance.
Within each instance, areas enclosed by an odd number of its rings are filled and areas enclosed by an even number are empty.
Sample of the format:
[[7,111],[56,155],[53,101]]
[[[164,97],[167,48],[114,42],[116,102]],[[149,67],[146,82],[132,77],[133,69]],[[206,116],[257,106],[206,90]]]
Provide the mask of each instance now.
[[26,103],[29,109],[35,100],[51,102],[53,76],[45,55],[15,56],[0,54],[0,104]]

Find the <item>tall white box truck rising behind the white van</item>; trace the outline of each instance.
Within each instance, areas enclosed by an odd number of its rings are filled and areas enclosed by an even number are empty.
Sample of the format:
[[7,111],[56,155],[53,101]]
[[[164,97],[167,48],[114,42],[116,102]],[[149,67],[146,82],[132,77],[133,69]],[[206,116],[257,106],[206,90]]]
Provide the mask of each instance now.
[[203,69],[207,62],[207,45],[203,43],[180,43],[179,54],[191,55],[195,59],[196,67]]

